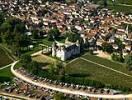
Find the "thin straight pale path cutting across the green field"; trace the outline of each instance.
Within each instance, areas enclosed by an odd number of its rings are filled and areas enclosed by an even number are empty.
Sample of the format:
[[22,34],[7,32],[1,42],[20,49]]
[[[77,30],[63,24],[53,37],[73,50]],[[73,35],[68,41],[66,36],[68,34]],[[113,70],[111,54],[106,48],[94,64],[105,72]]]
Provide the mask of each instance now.
[[83,57],[80,57],[80,58],[81,58],[82,60],[87,61],[87,62],[90,62],[90,63],[96,64],[96,65],[99,65],[100,67],[103,67],[103,68],[112,70],[112,71],[114,71],[114,72],[116,72],[116,73],[119,73],[119,74],[122,74],[122,75],[125,75],[125,76],[127,76],[127,77],[131,77],[131,78],[132,78],[132,75],[129,75],[129,74],[123,73],[123,72],[121,72],[121,71],[115,70],[115,69],[113,69],[113,68],[107,67],[107,66],[105,66],[105,65],[102,65],[102,64],[93,62],[93,61],[88,60],[88,59],[85,59],[85,58],[83,58]]

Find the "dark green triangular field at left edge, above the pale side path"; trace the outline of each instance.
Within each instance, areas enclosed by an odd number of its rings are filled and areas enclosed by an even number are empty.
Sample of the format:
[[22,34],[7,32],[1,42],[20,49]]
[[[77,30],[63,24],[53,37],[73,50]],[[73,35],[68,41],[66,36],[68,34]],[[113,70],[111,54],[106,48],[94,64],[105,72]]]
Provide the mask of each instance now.
[[0,67],[8,65],[12,60],[8,57],[5,51],[0,47]]

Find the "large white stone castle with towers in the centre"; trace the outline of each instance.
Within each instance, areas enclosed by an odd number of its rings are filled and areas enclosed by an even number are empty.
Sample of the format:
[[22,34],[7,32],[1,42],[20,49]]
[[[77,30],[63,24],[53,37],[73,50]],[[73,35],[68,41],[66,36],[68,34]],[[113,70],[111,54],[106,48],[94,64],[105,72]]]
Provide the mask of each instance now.
[[65,41],[65,43],[59,43],[55,41],[52,45],[52,56],[60,58],[65,61],[72,56],[80,54],[80,43],[76,41],[75,43]]

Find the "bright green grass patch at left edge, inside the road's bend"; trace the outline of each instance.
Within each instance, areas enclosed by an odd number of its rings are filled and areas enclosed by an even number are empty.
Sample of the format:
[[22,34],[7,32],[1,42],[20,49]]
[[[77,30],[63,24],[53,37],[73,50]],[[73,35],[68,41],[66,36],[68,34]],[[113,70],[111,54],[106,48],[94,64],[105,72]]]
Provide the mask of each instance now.
[[10,67],[0,70],[0,83],[5,81],[11,81],[13,77],[14,76],[10,71]]

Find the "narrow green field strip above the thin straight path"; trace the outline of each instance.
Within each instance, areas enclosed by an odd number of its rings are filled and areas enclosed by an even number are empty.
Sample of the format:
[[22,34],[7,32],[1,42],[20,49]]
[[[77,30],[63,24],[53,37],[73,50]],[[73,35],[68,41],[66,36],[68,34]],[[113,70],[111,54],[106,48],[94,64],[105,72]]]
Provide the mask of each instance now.
[[104,66],[113,68],[115,70],[124,72],[126,74],[132,75],[132,72],[128,71],[125,64],[121,64],[121,63],[118,63],[118,62],[114,62],[114,61],[104,59],[104,58],[101,58],[101,57],[98,57],[98,56],[90,55],[90,54],[86,54],[82,57],[85,58],[85,59],[88,59],[90,61],[99,63],[101,65],[104,65]]

